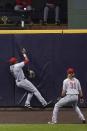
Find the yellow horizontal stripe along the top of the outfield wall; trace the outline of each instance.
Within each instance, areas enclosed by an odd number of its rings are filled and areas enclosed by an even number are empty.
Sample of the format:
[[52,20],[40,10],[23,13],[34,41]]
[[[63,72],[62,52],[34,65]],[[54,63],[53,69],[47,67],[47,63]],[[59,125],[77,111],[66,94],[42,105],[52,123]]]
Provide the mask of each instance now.
[[87,29],[70,30],[0,30],[0,34],[87,34]]

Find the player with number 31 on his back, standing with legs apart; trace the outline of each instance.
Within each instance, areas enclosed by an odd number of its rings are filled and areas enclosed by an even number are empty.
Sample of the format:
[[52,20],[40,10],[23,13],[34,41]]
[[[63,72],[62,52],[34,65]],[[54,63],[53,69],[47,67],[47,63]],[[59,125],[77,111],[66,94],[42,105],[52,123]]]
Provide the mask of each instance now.
[[63,89],[61,94],[61,99],[55,104],[53,109],[52,121],[48,122],[48,124],[56,124],[58,122],[58,113],[59,109],[66,104],[71,104],[78,114],[78,117],[82,121],[82,123],[86,123],[85,117],[82,114],[81,110],[77,106],[78,103],[78,95],[80,96],[80,100],[83,101],[83,93],[81,89],[81,85],[78,79],[75,77],[75,71],[73,68],[68,68],[67,70],[67,78],[63,81]]

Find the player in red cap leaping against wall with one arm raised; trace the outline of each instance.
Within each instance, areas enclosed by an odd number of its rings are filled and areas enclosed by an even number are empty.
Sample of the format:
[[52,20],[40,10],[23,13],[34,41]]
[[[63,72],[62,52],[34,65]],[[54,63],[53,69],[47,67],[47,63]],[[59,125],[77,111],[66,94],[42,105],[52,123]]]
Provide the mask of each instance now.
[[16,85],[18,87],[24,88],[27,90],[29,93],[27,95],[27,99],[25,102],[25,107],[27,108],[32,108],[30,105],[31,98],[33,95],[36,96],[36,98],[41,102],[43,107],[47,107],[50,102],[46,102],[46,100],[41,96],[40,92],[37,90],[37,88],[25,77],[23,73],[23,66],[29,63],[29,59],[26,55],[26,50],[22,49],[22,54],[24,56],[24,61],[23,62],[18,62],[16,57],[12,57],[9,60],[10,63],[10,71],[13,74]]

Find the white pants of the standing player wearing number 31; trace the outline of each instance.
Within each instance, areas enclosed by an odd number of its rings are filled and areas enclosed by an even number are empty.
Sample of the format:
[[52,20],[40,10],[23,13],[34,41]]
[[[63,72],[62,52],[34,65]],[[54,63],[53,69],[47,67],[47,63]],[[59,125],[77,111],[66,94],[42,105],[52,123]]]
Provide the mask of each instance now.
[[52,115],[52,122],[57,123],[58,121],[58,113],[59,109],[66,104],[71,103],[74,107],[75,112],[78,114],[78,117],[81,120],[85,120],[84,115],[82,114],[80,108],[77,106],[78,103],[78,95],[66,95],[65,97],[61,98],[54,106],[53,115]]

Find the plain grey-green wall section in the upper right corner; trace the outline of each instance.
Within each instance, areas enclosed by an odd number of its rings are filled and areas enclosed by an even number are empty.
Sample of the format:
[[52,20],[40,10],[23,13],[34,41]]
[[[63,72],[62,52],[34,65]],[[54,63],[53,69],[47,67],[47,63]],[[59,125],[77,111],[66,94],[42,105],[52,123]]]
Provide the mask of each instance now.
[[68,0],[69,28],[87,28],[87,0]]

